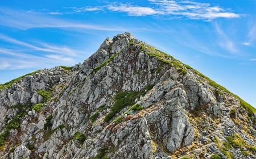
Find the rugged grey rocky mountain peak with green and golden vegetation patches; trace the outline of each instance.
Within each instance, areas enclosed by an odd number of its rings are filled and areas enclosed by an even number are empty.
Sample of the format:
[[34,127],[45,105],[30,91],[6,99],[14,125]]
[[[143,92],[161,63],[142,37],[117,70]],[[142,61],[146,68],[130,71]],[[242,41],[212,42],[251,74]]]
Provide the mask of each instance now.
[[2,158],[256,158],[255,108],[129,33],[0,85]]

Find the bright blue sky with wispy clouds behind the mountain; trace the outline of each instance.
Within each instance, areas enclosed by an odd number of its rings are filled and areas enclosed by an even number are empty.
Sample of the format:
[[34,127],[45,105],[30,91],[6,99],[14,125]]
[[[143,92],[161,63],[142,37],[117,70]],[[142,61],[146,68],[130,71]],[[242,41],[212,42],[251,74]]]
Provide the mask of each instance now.
[[131,32],[256,107],[256,1],[0,3],[0,83],[73,66],[106,37]]

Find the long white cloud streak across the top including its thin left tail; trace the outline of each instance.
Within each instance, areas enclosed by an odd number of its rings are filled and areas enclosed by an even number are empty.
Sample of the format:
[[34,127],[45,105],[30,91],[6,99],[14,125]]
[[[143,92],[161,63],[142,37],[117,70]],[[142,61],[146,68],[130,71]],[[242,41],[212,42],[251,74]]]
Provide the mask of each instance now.
[[[163,16],[164,18],[188,18],[198,20],[213,20],[216,18],[240,18],[242,14],[232,12],[230,9],[210,3],[192,1],[148,0],[144,5],[134,3],[113,2],[109,5],[65,7],[65,11],[38,11],[44,14],[83,14],[92,11],[126,12],[129,16]],[[30,12],[36,12],[31,10]]]

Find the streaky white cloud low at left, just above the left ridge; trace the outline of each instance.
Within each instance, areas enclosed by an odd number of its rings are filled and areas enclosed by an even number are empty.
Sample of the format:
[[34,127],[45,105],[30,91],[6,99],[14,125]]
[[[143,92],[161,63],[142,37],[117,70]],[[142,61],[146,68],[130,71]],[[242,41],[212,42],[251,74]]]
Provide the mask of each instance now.
[[0,34],[0,40],[11,44],[9,48],[0,47],[1,70],[73,64],[83,52],[42,42],[31,44],[3,34]]

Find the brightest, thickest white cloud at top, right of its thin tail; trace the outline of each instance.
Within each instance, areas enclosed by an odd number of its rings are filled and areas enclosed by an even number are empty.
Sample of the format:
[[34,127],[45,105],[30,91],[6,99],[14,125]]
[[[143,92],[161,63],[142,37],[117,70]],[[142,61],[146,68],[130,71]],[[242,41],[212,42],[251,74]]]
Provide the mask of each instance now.
[[149,0],[151,7],[132,6],[119,3],[119,5],[109,5],[107,9],[111,11],[127,12],[130,16],[162,15],[178,16],[190,19],[212,20],[216,18],[239,18],[241,15],[229,12],[219,6],[210,6],[209,3],[198,3],[191,1],[167,1]]

